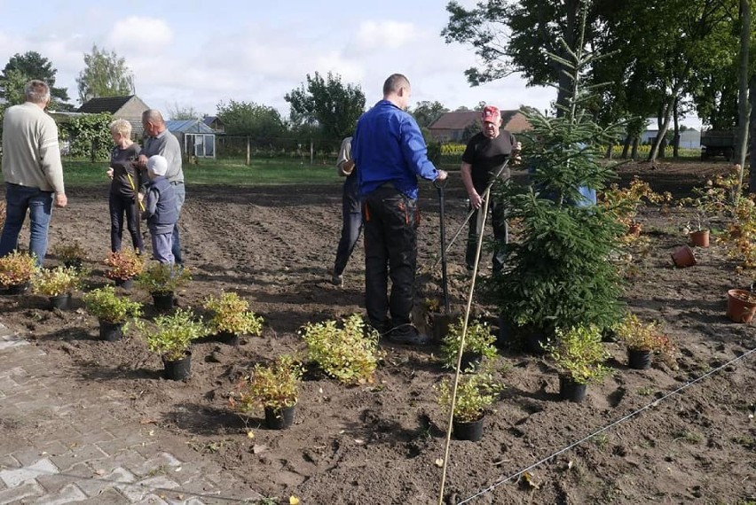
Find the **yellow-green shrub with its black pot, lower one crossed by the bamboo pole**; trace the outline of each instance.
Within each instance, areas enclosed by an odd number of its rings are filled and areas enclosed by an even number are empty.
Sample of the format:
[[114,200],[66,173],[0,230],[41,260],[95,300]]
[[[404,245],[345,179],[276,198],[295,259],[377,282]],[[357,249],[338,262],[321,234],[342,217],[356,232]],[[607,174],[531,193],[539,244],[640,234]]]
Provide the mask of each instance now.
[[[483,436],[484,418],[491,412],[503,385],[496,383],[490,374],[468,374],[459,377],[457,395],[454,399],[452,429],[461,440],[477,442]],[[437,386],[438,403],[452,407],[453,379],[444,378]]]

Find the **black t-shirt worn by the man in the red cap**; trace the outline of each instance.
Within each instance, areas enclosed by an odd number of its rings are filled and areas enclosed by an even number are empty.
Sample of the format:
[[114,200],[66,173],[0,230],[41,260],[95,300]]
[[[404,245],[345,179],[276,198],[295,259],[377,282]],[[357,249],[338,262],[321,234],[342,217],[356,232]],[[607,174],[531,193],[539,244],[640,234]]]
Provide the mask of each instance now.
[[[482,193],[497,170],[512,154],[516,144],[515,136],[506,129],[499,130],[499,136],[488,138],[480,132],[473,136],[462,154],[462,161],[468,163],[472,169],[473,186],[478,193]],[[509,178],[509,167],[501,172],[501,179]]]

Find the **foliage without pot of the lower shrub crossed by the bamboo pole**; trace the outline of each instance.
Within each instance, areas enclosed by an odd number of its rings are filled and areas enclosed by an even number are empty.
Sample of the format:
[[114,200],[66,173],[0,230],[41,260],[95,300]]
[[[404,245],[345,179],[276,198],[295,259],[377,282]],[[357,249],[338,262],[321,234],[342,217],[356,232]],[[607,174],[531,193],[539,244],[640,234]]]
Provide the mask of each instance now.
[[[458,423],[472,423],[491,410],[503,385],[493,380],[491,374],[479,373],[460,376],[457,398],[454,400],[454,420]],[[453,379],[445,377],[437,385],[438,404],[449,408],[452,405]]]

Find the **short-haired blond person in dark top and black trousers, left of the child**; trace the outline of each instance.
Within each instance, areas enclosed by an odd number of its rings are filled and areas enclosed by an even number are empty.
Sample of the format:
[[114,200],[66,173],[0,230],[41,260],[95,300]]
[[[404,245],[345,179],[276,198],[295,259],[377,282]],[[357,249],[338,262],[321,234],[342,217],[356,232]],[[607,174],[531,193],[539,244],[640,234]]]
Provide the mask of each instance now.
[[121,251],[123,236],[123,215],[126,215],[126,228],[129,229],[131,243],[139,254],[145,252],[142,236],[139,234],[139,214],[137,212],[137,189],[140,183],[136,160],[139,156],[139,144],[131,141],[131,123],[127,120],[114,120],[110,123],[110,135],[115,147],[110,152],[110,167],[107,176],[110,183],[110,250]]

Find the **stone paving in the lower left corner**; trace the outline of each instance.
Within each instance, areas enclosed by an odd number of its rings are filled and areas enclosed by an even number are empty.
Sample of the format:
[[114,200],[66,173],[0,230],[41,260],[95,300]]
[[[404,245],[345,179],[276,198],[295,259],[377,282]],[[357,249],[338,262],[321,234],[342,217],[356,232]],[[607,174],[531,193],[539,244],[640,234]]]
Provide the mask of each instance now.
[[[70,391],[61,392],[65,383]],[[114,400],[87,398],[50,356],[0,323],[0,505],[263,498],[183,440],[116,420],[101,408],[106,401]],[[9,436],[14,427],[34,435]]]

